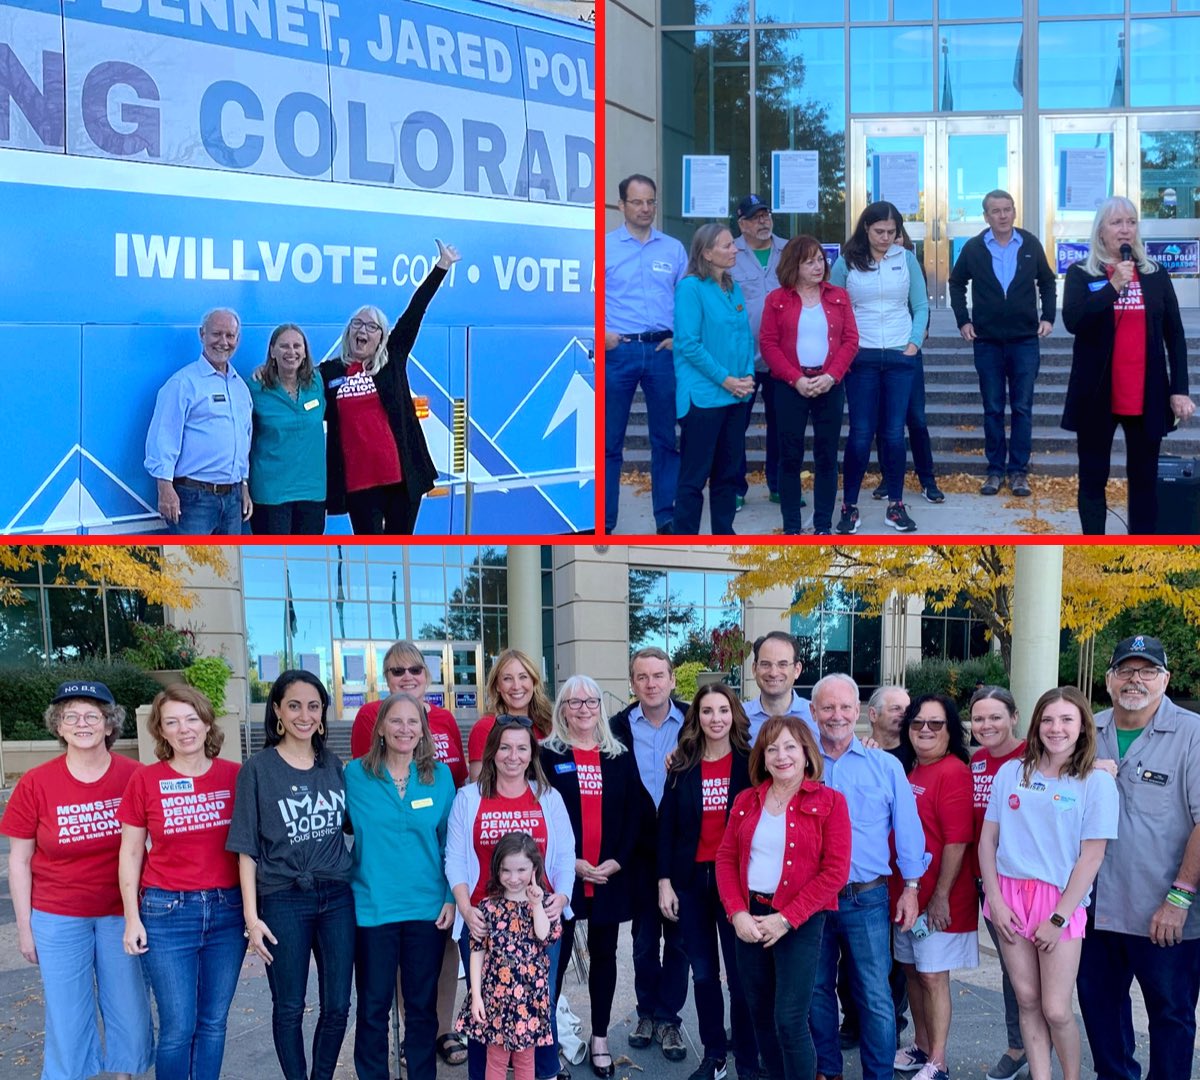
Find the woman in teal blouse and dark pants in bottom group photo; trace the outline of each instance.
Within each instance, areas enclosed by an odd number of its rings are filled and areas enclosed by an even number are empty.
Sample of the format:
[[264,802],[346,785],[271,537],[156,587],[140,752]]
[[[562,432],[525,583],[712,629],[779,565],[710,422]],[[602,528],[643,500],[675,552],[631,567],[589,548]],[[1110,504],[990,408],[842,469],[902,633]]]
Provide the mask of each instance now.
[[371,749],[344,775],[358,920],[354,1067],[366,1080],[391,1075],[388,1014],[400,967],[408,1076],[436,1080],[438,974],[454,924],[444,865],[455,787],[416,697],[392,694],[380,706]]

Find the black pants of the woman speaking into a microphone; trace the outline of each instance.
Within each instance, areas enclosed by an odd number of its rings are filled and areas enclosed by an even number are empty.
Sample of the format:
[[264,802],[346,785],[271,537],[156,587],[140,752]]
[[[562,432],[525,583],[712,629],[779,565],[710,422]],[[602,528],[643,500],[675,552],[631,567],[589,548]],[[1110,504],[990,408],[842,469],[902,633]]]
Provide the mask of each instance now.
[[1109,482],[1112,436],[1126,433],[1126,475],[1129,491],[1129,535],[1153,534],[1158,524],[1158,448],[1162,438],[1146,434],[1144,416],[1094,416],[1078,434],[1079,524],[1086,535],[1103,535],[1108,515],[1104,485]]

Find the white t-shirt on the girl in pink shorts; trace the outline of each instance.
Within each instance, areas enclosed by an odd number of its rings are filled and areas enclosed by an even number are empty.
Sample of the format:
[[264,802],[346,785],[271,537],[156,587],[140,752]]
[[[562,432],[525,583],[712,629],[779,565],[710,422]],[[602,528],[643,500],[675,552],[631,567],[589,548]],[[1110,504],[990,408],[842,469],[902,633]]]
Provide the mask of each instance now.
[[[1102,769],[1092,769],[1084,780],[1044,776],[1034,769],[1026,784],[1022,775],[1021,762],[1010,761],[991,785],[986,820],[1000,826],[996,871],[1064,889],[1084,840],[1116,839],[1121,809],[1116,780]],[[1085,896],[1080,906],[1087,902]]]

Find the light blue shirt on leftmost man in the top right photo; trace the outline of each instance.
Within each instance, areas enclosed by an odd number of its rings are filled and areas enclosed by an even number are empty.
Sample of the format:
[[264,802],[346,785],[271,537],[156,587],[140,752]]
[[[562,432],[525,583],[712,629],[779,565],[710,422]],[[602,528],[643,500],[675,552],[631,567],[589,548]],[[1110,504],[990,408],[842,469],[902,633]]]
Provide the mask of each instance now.
[[650,229],[641,244],[622,224],[604,238],[604,328],[647,334],[674,325],[674,287],[688,269],[683,245]]

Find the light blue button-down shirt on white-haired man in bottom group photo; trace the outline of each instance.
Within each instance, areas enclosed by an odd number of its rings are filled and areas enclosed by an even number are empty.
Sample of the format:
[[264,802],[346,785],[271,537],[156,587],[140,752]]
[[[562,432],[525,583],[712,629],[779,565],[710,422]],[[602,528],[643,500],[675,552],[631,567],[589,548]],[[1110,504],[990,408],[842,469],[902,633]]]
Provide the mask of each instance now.
[[839,758],[824,754],[824,782],[850,806],[850,880],[874,881],[892,874],[888,835],[895,833],[896,865],[906,877],[920,877],[931,860],[917,797],[904,767],[883,750],[868,750],[856,736]]

